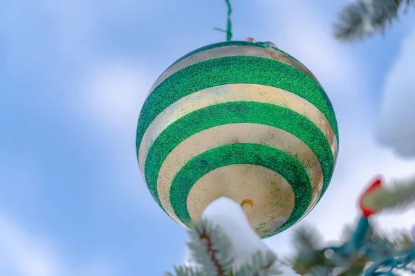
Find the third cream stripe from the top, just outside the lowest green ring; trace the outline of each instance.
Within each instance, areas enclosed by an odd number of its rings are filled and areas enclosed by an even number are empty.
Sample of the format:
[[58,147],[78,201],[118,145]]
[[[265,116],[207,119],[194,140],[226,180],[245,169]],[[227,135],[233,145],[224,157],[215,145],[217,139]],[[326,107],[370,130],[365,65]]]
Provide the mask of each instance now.
[[[170,202],[170,187],[176,174],[192,158],[201,153],[229,144],[261,144],[277,148],[296,157],[306,170],[311,170],[312,202],[322,192],[323,172],[313,150],[285,130],[261,124],[228,124],[209,128],[192,135],[176,146],[167,156],[158,172],[157,192],[165,211],[180,224]],[[308,206],[312,208],[313,206]],[[308,210],[307,209],[307,210]]]

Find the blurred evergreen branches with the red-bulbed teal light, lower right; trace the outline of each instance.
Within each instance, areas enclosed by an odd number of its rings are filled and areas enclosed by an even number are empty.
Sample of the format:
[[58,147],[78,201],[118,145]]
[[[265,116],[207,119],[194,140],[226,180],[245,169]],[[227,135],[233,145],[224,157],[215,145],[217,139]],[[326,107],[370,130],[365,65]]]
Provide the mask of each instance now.
[[[295,255],[288,262],[300,275],[356,276],[396,275],[396,270],[415,273],[415,235],[402,231],[385,235],[370,222],[382,210],[400,210],[415,201],[415,179],[393,186],[374,184],[360,197],[356,226],[346,226],[340,246],[325,247],[320,234],[304,227],[294,234]],[[384,273],[384,274],[382,274]]]

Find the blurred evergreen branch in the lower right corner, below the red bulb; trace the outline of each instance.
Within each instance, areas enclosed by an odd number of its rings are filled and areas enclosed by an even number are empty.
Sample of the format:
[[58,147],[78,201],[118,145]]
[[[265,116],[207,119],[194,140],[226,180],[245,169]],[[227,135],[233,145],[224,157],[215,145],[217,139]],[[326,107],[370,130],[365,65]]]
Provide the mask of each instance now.
[[[360,217],[359,224],[362,220],[366,219]],[[298,228],[293,237],[295,255],[288,262],[297,273],[307,276],[396,275],[374,273],[415,269],[415,241],[407,233],[387,237],[375,231],[371,224],[361,233],[359,224],[344,228],[347,239],[335,242],[340,246],[329,247],[322,245],[320,234],[312,228]],[[349,233],[350,229],[353,233]]]

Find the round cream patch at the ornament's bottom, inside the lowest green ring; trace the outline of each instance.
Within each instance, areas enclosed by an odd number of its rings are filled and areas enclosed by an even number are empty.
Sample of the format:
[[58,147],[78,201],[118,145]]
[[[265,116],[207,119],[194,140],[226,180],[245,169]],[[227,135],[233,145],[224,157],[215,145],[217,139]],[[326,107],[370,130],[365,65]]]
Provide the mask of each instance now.
[[288,181],[277,172],[257,165],[223,166],[196,181],[187,196],[192,221],[200,219],[206,206],[219,197],[229,197],[241,204],[259,236],[282,226],[295,206],[295,194]]

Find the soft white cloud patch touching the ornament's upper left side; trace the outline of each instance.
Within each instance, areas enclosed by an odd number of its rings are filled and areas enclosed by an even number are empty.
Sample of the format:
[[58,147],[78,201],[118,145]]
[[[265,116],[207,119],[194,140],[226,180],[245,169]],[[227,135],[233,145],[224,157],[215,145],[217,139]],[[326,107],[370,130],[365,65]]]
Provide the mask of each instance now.
[[[138,116],[153,79],[127,61],[100,63],[80,83],[82,115],[119,135],[135,135]],[[79,104],[79,102],[78,102]]]

